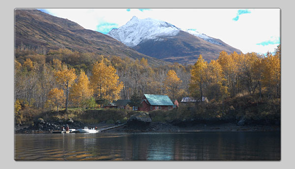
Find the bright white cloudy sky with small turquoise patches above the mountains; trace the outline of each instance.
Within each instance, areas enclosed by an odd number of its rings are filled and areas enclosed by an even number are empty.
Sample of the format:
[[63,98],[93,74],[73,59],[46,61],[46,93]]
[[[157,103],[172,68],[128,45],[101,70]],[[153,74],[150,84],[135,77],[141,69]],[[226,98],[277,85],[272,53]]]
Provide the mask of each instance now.
[[133,16],[158,19],[221,39],[243,53],[273,52],[280,43],[280,9],[50,8],[41,11],[104,34],[126,24]]

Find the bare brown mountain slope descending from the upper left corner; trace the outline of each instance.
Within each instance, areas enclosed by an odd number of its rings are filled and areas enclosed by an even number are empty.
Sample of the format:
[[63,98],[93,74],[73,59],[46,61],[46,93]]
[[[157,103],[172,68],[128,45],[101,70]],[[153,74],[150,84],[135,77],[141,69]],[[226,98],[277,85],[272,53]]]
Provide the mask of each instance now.
[[97,31],[85,29],[68,19],[55,17],[37,9],[16,9],[15,47],[45,47],[47,50],[67,48],[79,52],[94,52],[105,56],[148,59],[151,65],[168,62],[141,54],[118,40]]

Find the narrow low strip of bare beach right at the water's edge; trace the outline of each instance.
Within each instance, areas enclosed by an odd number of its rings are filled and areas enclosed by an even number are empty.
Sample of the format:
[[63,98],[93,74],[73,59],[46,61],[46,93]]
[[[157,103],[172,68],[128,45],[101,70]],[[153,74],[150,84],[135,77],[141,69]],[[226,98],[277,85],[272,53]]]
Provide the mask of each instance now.
[[[161,133],[161,132],[280,132],[280,125],[243,125],[238,126],[236,123],[221,123],[221,124],[194,124],[187,126],[176,126],[170,123],[160,123],[151,122],[148,126],[139,126],[139,128],[129,127],[127,125],[122,125],[116,128],[112,128],[118,125],[115,124],[85,124],[88,127],[97,127],[98,130],[107,129],[101,131],[101,133]],[[50,130],[38,130],[38,129],[28,129],[29,126],[15,127],[15,134],[41,134],[41,133],[51,133]],[[81,128],[81,127],[71,127],[70,128]],[[108,129],[111,128],[111,129]]]

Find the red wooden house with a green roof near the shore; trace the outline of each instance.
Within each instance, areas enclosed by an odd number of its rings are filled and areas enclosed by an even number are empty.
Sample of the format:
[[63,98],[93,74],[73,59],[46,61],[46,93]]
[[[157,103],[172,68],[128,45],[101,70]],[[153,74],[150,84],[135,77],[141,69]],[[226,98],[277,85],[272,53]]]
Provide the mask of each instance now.
[[170,110],[173,106],[173,102],[167,95],[144,94],[142,106],[138,108],[138,111]]

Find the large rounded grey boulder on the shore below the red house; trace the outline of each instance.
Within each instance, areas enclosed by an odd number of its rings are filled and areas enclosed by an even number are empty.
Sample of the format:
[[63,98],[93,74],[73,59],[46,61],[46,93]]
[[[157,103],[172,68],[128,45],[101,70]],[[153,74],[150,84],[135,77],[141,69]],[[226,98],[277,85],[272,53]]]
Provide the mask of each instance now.
[[140,112],[131,115],[127,120],[127,126],[132,128],[145,128],[151,122],[151,118],[148,113]]

